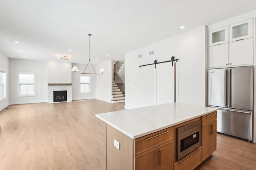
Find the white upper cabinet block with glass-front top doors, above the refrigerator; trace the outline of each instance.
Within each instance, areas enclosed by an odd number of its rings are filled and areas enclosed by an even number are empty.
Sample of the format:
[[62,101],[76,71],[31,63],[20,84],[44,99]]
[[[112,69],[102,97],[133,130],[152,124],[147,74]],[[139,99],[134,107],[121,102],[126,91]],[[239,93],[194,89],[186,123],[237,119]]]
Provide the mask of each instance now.
[[253,64],[253,19],[209,31],[209,67]]

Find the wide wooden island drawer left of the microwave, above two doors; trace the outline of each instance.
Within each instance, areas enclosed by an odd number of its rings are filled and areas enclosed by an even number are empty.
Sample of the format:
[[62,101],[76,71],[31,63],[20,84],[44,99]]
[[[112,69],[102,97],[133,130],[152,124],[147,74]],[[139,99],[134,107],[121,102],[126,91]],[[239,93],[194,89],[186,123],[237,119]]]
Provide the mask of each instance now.
[[134,140],[134,156],[173,139],[173,127]]

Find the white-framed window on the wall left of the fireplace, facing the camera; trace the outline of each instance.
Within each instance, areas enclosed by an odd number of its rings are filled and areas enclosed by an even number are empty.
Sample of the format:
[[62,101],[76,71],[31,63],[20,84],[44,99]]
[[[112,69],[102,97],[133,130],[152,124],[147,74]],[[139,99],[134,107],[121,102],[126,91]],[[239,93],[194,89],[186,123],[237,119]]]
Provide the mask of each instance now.
[[35,73],[19,73],[19,96],[36,96]]

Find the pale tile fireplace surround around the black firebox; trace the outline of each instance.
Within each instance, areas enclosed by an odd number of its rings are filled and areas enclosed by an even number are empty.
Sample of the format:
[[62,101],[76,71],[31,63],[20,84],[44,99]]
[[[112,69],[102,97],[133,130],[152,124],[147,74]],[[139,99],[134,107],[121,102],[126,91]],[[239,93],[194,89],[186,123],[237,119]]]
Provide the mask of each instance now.
[[72,102],[72,84],[48,84],[48,103],[53,103],[53,91],[67,91],[67,102]]

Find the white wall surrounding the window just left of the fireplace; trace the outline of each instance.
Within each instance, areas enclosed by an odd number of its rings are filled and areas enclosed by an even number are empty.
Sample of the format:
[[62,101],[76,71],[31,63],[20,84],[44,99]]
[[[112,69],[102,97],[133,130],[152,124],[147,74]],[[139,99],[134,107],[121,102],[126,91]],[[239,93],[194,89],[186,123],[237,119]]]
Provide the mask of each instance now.
[[[47,63],[44,61],[9,59],[10,104],[47,102]],[[18,72],[36,72],[36,96],[18,97]]]

